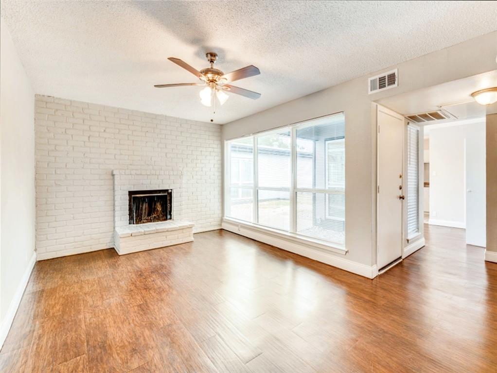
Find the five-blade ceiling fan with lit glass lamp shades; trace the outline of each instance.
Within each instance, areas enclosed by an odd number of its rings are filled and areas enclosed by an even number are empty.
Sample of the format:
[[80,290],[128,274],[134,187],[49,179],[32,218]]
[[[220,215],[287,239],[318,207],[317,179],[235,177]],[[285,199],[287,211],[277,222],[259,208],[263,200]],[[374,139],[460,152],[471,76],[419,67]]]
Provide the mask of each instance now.
[[231,92],[239,94],[252,100],[260,97],[260,93],[250,91],[248,89],[240,88],[235,85],[227,84],[235,80],[245,79],[246,77],[259,75],[260,71],[255,66],[250,65],[245,68],[232,71],[231,73],[224,74],[221,70],[214,68],[214,63],[217,60],[217,54],[214,52],[208,52],[205,57],[207,61],[211,64],[210,68],[202,69],[197,71],[186,62],[169,57],[168,60],[175,63],[179,67],[182,67],[186,71],[198,77],[201,81],[199,83],[176,83],[176,84],[156,84],[156,88],[166,88],[166,87],[181,87],[187,85],[205,85],[205,88],[200,91],[200,102],[213,108],[215,112],[216,101],[219,101],[223,105],[228,99],[229,95],[225,92]]

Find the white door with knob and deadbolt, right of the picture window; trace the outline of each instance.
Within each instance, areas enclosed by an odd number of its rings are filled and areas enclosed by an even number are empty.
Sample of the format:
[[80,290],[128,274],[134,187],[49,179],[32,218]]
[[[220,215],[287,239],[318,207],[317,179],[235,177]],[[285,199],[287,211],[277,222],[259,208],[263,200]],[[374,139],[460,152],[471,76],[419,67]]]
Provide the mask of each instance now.
[[404,117],[378,105],[377,267],[402,257]]

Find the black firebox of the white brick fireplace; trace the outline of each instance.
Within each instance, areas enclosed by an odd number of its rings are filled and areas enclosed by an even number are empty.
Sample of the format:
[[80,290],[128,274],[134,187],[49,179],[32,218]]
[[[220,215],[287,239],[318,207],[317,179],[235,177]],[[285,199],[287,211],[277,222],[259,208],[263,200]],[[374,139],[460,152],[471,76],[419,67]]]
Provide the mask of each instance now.
[[165,222],[172,219],[172,189],[130,190],[129,224]]

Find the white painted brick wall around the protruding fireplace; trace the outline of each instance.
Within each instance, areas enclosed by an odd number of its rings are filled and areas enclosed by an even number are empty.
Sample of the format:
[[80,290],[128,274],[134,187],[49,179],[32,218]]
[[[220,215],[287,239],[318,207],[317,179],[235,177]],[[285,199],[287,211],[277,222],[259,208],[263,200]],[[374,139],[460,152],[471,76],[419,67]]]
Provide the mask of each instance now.
[[220,125],[42,95],[35,106],[39,256],[114,246],[113,169],[179,171],[174,219],[221,227]]

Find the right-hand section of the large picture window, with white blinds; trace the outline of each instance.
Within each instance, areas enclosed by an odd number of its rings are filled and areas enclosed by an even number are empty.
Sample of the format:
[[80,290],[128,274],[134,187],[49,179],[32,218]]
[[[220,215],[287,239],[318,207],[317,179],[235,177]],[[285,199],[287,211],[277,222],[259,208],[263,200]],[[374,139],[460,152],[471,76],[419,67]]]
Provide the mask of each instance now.
[[297,126],[296,232],[345,243],[345,117]]

